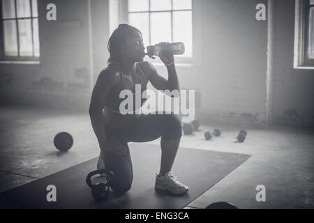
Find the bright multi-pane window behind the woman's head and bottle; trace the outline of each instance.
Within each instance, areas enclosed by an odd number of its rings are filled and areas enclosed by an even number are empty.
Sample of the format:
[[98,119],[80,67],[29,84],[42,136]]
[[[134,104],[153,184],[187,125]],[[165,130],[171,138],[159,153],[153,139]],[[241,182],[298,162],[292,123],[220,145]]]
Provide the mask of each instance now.
[[192,56],[191,0],[128,0],[128,22],[140,29],[144,45],[183,42],[184,58]]

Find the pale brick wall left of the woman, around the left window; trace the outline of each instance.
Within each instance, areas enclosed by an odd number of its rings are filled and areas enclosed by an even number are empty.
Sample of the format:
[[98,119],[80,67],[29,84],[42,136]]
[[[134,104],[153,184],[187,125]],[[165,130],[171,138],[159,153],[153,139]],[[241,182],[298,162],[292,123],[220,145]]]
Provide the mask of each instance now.
[[[56,4],[57,21],[46,20],[48,3]],[[108,57],[108,8],[108,1],[91,0],[91,74],[88,1],[38,1],[40,64],[1,63],[0,103],[87,110],[91,82]]]

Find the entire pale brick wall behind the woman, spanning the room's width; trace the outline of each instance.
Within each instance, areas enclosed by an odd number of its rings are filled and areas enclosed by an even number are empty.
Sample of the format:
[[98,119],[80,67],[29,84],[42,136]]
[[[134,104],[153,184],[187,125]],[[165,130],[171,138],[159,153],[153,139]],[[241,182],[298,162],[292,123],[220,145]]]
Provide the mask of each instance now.
[[[57,22],[45,20],[47,3],[56,3]],[[255,20],[257,3],[267,0],[193,1],[193,66],[177,72],[181,88],[197,92],[196,114],[205,120],[267,118],[267,21]],[[0,63],[1,104],[87,109],[108,58],[108,4],[91,0],[91,74],[88,1],[38,1],[40,64]],[[274,1],[274,28],[274,122],[313,123],[313,70],[292,65],[293,0]],[[156,68],[167,76],[164,66]]]

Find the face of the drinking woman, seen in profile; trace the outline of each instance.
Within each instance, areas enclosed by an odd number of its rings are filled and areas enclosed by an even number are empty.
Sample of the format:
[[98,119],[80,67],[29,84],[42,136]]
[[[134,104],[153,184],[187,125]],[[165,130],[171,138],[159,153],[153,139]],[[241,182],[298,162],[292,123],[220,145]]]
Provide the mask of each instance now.
[[124,59],[132,62],[143,61],[145,56],[145,47],[140,32],[135,31],[134,34],[126,38],[126,42],[121,47],[121,53]]

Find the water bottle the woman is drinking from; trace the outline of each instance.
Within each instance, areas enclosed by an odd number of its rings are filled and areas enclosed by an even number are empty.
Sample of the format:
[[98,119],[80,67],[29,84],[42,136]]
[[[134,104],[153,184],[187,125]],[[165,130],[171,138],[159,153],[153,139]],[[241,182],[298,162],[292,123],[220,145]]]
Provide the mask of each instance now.
[[162,52],[170,52],[173,55],[181,55],[185,52],[184,43],[158,43],[154,46],[147,46],[148,56],[159,56]]

